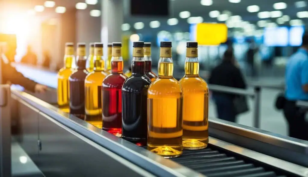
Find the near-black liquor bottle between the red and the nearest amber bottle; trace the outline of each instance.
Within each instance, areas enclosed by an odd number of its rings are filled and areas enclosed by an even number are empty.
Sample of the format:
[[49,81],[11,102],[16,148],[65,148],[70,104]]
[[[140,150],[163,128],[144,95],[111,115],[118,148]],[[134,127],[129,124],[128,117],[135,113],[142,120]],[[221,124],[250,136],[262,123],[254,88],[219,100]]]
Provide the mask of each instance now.
[[132,76],[122,87],[122,138],[139,146],[147,143],[147,95],[144,42],[133,43]]

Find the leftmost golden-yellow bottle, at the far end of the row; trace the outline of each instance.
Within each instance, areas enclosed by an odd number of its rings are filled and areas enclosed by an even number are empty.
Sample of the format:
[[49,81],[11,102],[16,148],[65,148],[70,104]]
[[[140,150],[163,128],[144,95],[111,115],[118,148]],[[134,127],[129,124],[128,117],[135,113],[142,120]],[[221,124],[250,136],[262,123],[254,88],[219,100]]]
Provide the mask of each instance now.
[[74,44],[65,44],[64,67],[58,72],[57,99],[59,108],[64,112],[69,112],[70,90],[68,78],[73,72],[72,62],[75,61]]

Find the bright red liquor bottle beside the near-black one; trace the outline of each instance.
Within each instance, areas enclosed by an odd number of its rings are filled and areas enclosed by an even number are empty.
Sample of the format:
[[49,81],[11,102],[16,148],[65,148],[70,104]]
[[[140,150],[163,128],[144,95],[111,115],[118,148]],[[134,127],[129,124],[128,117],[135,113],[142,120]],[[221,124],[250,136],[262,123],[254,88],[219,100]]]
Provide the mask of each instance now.
[[103,81],[103,130],[115,136],[122,135],[122,85],[127,77],[123,74],[122,43],[112,43],[111,74]]

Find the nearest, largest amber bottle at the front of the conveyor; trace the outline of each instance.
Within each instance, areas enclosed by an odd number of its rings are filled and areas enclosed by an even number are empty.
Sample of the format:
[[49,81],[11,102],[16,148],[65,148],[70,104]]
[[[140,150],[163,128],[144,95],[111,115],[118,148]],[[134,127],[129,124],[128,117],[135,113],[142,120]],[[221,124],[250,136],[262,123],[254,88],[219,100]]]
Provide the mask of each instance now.
[[173,77],[171,42],[160,42],[158,78],[148,89],[148,150],[165,158],[182,154],[182,101],[182,87]]

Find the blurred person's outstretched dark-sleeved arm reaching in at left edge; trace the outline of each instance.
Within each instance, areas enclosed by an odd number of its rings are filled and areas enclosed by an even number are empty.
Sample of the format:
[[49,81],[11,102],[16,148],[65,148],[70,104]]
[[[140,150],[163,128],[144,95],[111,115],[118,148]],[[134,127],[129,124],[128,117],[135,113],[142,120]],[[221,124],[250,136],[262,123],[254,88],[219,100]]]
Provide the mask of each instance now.
[[0,61],[1,61],[1,75],[2,77],[0,84],[16,84],[24,87],[26,90],[31,92],[43,93],[46,91],[47,86],[38,84],[22,75],[12,65],[9,59],[5,56],[6,44],[0,44]]

